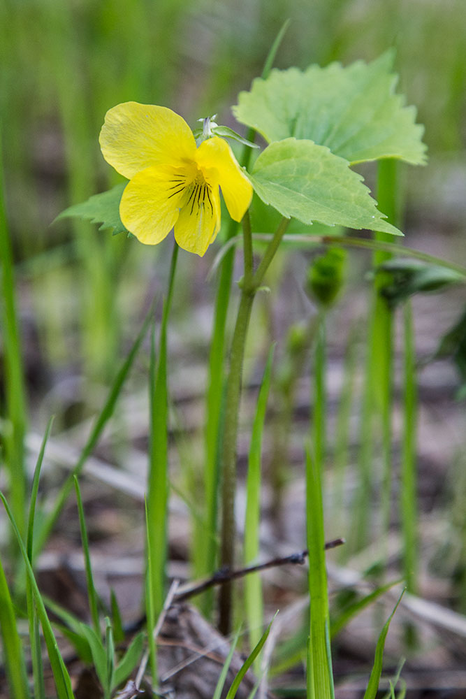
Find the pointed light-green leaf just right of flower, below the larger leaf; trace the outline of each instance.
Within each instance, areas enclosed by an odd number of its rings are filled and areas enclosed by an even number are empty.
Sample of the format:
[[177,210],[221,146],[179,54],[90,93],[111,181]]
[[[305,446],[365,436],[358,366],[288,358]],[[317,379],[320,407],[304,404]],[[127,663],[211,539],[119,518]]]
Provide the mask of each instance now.
[[402,235],[384,221],[361,175],[312,140],[271,143],[259,155],[249,179],[262,201],[286,218]]

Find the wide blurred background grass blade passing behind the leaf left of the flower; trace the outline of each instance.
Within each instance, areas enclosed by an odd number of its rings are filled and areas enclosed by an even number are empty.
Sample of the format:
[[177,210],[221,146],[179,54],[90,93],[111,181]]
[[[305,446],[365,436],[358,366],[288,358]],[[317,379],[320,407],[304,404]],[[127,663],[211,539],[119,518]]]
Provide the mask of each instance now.
[[[57,91],[59,118],[63,129],[68,169],[66,185],[68,201],[85,201],[95,192],[97,141],[91,110],[83,102],[87,75],[83,70],[79,39],[75,31],[76,17],[67,3],[45,2],[41,20],[49,25],[51,41],[44,47]],[[103,117],[103,115],[102,115]],[[71,224],[76,249],[82,261],[77,291],[80,295],[80,340],[87,369],[92,375],[108,375],[115,361],[117,322],[114,303],[116,276],[113,252],[119,247],[111,236],[96,234],[94,226],[84,221]]]

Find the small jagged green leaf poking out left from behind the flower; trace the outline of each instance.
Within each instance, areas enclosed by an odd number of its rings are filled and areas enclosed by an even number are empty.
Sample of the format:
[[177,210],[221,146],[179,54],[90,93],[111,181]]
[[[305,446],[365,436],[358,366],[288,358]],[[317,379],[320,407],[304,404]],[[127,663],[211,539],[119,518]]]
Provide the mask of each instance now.
[[100,224],[99,231],[112,229],[114,236],[117,233],[128,233],[119,217],[119,201],[127,184],[128,182],[123,182],[109,189],[108,192],[94,194],[87,201],[69,206],[57,216],[55,221],[64,218],[81,218]]

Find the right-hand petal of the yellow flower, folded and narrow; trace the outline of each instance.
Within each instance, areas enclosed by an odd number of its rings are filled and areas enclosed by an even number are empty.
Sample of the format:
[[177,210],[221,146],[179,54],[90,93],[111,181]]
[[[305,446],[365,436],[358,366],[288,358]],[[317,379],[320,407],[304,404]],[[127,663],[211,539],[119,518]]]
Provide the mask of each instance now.
[[231,147],[218,136],[207,138],[196,151],[196,162],[205,171],[208,181],[217,180],[228,212],[235,221],[240,221],[251,203],[252,185]]

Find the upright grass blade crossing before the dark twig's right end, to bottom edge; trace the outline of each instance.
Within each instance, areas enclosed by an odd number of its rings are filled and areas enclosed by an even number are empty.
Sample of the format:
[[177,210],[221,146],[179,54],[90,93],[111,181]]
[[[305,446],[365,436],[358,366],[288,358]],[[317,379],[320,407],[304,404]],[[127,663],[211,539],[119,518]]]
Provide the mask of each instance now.
[[309,549],[310,640],[307,651],[307,699],[334,699],[328,615],[321,464],[306,449],[306,519]]

